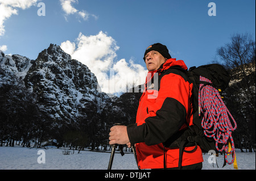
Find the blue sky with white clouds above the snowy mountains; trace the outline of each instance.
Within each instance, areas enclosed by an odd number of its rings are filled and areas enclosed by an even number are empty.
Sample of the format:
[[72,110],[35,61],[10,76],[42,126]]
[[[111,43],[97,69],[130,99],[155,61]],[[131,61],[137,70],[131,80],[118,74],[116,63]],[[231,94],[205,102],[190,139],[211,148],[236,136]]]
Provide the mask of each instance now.
[[[38,16],[40,2],[46,16]],[[208,15],[210,2],[216,16]],[[6,54],[35,59],[50,43],[61,45],[102,87],[110,69],[119,79],[127,73],[143,77],[144,50],[153,43],[167,45],[189,68],[210,63],[234,33],[255,39],[254,0],[0,0],[0,10],[0,48]]]

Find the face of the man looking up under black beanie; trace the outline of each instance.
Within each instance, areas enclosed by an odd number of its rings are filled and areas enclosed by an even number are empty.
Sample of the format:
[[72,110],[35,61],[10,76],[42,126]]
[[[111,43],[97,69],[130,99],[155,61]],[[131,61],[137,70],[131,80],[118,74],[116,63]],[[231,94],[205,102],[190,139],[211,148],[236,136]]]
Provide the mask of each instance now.
[[166,58],[162,56],[159,52],[152,50],[145,55],[145,63],[148,71],[154,71],[160,68],[166,61]]

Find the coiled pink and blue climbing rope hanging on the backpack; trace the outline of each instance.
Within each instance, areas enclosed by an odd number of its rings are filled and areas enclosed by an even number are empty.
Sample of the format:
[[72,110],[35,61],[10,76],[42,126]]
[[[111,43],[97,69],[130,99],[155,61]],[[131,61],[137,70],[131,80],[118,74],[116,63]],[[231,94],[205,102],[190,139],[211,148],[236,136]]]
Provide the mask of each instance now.
[[[212,83],[209,79],[200,76],[200,81]],[[221,99],[220,93],[211,85],[200,84],[199,87],[199,116],[203,113],[202,127],[207,137],[216,141],[216,149],[225,151],[226,163],[231,165],[236,158],[234,141],[231,133],[237,128],[236,121]],[[233,125],[230,121],[233,121]],[[231,147],[231,148],[230,148]],[[228,155],[232,154],[232,161]]]

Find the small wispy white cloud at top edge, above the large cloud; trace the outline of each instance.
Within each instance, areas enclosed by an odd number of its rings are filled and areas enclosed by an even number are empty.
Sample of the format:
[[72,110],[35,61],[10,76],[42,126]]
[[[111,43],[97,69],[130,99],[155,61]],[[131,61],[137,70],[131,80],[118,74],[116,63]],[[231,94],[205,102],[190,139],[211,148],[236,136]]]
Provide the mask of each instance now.
[[75,7],[72,6],[72,3],[78,3],[78,0],[60,0],[61,7],[65,12],[65,19],[67,20],[67,15],[76,14],[79,15],[82,19],[88,20],[89,16],[93,16],[95,19],[98,17],[94,14],[89,14],[85,10],[77,10]]

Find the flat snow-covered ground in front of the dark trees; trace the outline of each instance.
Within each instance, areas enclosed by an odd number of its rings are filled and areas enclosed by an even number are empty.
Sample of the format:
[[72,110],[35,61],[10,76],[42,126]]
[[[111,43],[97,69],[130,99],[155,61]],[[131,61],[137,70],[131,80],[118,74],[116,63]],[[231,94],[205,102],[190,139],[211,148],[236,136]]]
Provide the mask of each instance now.
[[[45,163],[43,150],[45,153]],[[241,153],[237,149],[238,170],[255,170],[255,153]],[[234,170],[233,165],[224,163],[224,155],[217,157],[217,164],[208,163],[210,155],[203,154],[203,170]],[[101,153],[94,151],[78,151],[74,154],[64,155],[63,149],[35,149],[22,148],[19,146],[0,146],[0,170],[106,170],[108,169],[110,152]],[[230,159],[230,158],[229,158]],[[213,167],[214,166],[214,167]],[[119,151],[115,151],[112,170],[137,170],[134,155],[126,153],[121,156]]]

